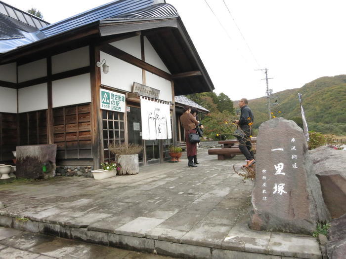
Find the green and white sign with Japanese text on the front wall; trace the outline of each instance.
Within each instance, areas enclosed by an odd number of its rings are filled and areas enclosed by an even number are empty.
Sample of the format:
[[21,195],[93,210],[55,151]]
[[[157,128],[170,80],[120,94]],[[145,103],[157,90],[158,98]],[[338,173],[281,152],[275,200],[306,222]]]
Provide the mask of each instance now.
[[100,89],[100,108],[109,111],[125,112],[125,94]]

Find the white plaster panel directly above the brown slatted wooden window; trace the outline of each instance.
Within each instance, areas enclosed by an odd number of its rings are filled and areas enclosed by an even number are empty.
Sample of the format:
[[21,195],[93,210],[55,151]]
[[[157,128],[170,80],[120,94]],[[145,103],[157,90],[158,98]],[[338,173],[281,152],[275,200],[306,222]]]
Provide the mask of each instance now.
[[52,107],[91,102],[90,74],[81,74],[52,82]]

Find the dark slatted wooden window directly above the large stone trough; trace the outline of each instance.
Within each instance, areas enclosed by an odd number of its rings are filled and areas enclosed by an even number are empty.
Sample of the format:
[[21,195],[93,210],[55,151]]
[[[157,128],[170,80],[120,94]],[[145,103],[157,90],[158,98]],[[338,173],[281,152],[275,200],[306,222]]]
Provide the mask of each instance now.
[[19,113],[20,146],[47,144],[47,110]]

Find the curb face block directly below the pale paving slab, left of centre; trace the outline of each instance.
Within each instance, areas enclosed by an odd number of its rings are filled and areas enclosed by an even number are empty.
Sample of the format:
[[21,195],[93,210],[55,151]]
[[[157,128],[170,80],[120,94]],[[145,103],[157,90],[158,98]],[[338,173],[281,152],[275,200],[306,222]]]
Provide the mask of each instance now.
[[153,239],[108,234],[109,246],[124,248],[127,250],[154,253],[155,241]]

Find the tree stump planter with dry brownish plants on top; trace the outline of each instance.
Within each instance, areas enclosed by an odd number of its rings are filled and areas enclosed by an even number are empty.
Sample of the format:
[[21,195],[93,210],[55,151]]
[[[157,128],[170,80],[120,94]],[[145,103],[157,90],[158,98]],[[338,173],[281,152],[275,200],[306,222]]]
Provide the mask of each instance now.
[[111,143],[108,148],[115,154],[115,162],[121,165],[118,175],[135,175],[139,173],[138,153],[142,151],[142,146]]

